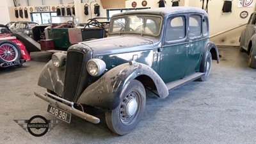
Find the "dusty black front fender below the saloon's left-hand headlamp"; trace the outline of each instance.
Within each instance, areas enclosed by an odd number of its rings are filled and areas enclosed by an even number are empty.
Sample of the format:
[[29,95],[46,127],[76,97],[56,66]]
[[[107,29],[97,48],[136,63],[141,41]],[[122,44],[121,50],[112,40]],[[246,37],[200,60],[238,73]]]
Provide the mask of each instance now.
[[42,69],[38,79],[38,86],[42,86],[55,92],[58,95],[63,94],[63,86],[65,79],[65,66],[55,67],[50,60]]

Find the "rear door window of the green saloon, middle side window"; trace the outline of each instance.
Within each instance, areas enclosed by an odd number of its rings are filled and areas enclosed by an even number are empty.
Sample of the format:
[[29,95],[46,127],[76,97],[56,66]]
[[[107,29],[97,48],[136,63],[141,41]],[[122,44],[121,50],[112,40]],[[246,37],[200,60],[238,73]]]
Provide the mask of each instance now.
[[195,38],[201,35],[201,21],[200,15],[189,16],[189,38]]

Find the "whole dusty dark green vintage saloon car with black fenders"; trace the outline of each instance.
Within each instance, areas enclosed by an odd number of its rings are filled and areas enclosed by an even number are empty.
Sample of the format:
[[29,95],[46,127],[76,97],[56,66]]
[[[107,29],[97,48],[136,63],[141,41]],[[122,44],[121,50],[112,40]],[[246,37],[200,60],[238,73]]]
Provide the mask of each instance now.
[[35,95],[68,123],[76,115],[97,124],[84,108],[104,109],[109,129],[127,134],[143,116],[145,88],[164,99],[177,86],[207,79],[212,59],[219,62],[208,23],[204,10],[191,7],[118,13],[107,38],[53,54],[38,80],[47,92]]

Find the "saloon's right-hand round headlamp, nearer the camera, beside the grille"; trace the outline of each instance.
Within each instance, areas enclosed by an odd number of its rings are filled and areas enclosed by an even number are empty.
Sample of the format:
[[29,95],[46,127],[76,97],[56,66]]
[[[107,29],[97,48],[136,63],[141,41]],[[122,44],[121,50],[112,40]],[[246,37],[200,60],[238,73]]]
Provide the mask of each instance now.
[[106,70],[106,63],[100,59],[94,58],[87,63],[87,71],[91,76],[100,76],[104,70]]

